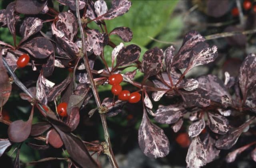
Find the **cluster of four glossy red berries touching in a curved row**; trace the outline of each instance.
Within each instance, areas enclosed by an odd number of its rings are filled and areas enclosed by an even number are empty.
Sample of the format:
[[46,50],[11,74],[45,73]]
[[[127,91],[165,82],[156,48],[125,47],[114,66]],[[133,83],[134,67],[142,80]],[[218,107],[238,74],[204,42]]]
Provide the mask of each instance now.
[[112,85],[111,92],[113,95],[118,95],[118,99],[128,101],[129,103],[137,103],[140,101],[141,95],[138,92],[130,93],[128,90],[122,90],[120,83],[123,81],[121,74],[114,74],[108,77],[108,83]]

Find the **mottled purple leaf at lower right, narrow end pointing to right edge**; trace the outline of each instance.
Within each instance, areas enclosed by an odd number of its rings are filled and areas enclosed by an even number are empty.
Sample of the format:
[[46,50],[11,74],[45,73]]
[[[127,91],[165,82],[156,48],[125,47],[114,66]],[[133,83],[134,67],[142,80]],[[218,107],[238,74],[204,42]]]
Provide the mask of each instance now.
[[250,119],[246,123],[240,125],[238,128],[231,128],[226,134],[222,135],[217,141],[215,146],[219,149],[230,149],[239,136],[242,134],[243,130],[252,123],[254,118]]

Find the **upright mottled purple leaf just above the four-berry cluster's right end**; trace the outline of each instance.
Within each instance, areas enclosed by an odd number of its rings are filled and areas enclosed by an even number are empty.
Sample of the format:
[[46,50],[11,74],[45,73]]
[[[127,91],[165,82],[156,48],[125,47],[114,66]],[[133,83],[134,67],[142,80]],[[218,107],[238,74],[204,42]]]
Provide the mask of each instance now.
[[142,72],[144,79],[156,75],[162,69],[162,60],[164,58],[161,49],[154,47],[146,51],[142,58]]

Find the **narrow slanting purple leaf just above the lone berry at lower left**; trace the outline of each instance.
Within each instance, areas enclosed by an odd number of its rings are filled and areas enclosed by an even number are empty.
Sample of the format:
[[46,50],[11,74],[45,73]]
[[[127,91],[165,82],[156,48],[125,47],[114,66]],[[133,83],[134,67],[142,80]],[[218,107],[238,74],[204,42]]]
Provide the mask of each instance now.
[[62,93],[62,91],[64,91],[66,87],[68,87],[70,81],[71,77],[70,75],[68,75],[68,77],[64,81],[54,86],[47,95],[48,101],[53,101],[60,93]]

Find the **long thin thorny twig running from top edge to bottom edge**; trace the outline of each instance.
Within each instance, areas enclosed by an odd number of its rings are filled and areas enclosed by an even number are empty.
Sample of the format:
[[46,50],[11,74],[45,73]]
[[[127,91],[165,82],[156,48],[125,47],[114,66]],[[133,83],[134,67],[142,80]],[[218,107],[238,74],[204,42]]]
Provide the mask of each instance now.
[[[87,57],[87,53],[86,53],[86,43],[85,43],[86,41],[85,41],[85,37],[84,37],[84,29],[83,29],[82,23],[81,23],[78,1],[76,1],[76,17],[78,19],[78,25],[79,25],[81,39],[82,39],[82,53],[83,53],[84,65],[86,67],[86,71],[87,71],[87,73],[89,75],[89,78],[90,78],[90,83],[91,83],[91,86],[92,86],[92,92],[94,94],[94,98],[95,98],[97,107],[100,107],[101,106],[100,97],[98,95],[97,88],[96,88],[96,85],[94,83],[94,79],[93,79],[93,76],[92,76],[92,72],[91,72],[91,69],[90,69],[90,65],[89,65],[89,61],[88,61],[88,57]],[[107,154],[108,159],[109,159],[110,164],[112,165],[112,167],[113,168],[118,168],[118,164],[116,162],[116,159],[114,157],[114,153],[113,153],[112,148],[111,148],[110,136],[109,136],[108,126],[107,126],[107,122],[106,122],[106,115],[100,114],[100,119],[102,121],[102,126],[103,126],[103,130],[104,130],[104,137],[105,137],[105,142],[106,142],[106,147],[107,147],[107,151],[104,151],[104,152],[105,152],[105,154]]]

